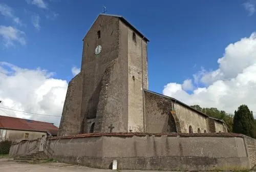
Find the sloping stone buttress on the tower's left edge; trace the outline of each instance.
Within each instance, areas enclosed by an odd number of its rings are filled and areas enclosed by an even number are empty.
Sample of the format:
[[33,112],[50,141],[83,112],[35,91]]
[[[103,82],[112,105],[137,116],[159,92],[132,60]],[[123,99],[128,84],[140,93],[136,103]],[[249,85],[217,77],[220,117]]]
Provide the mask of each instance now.
[[58,136],[75,135],[79,133],[81,120],[83,72],[77,74],[70,82],[63,105]]

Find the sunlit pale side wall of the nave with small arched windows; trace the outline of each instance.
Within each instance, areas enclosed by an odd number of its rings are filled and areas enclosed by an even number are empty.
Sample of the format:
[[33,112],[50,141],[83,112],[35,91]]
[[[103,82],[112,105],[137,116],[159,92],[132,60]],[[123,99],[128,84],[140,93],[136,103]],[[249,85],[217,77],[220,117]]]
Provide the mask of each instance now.
[[193,128],[193,133],[198,133],[198,128],[200,128],[201,133],[204,133],[204,130],[208,133],[206,117],[178,103],[174,103],[174,110],[180,121],[181,133],[188,133],[189,125]]

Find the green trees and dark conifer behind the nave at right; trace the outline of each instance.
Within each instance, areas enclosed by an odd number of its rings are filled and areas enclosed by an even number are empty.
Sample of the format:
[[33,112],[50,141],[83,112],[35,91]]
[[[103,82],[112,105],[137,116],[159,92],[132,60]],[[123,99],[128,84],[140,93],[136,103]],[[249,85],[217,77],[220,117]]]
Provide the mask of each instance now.
[[218,110],[216,107],[201,107],[200,105],[191,105],[191,107],[212,118],[224,120],[229,132],[256,138],[256,120],[253,118],[253,112],[245,104],[240,105],[234,114]]

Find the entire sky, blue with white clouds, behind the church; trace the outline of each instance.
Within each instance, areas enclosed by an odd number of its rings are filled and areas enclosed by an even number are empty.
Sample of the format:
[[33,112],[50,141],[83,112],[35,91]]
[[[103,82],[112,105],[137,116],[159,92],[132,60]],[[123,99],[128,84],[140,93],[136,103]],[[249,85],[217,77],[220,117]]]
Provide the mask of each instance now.
[[[47,113],[43,108],[46,104],[41,104],[38,109],[31,107],[42,103],[44,98],[41,97],[49,95],[51,100],[56,100],[60,95],[59,112],[48,112],[60,114],[66,96],[66,82],[73,77],[71,69],[80,68],[82,38],[105,6],[106,13],[124,16],[150,39],[150,90],[188,104],[214,106],[228,112],[233,112],[241,103],[252,106],[256,101],[256,95],[251,96],[251,91],[256,89],[255,4],[256,0],[2,0],[0,99],[8,102],[4,104],[6,107]],[[10,77],[6,71],[15,71],[17,67],[20,69],[13,74],[15,77]],[[25,76],[20,73],[27,74],[36,68],[54,72],[54,75],[47,78],[44,71],[37,71],[33,76],[43,79],[29,78],[29,82],[23,84],[23,88],[30,88],[31,92],[21,90],[21,86],[16,88],[19,92],[26,92],[24,97],[31,96],[34,90],[40,90],[46,83],[48,86],[56,84],[63,92],[50,91],[55,86],[49,86],[49,92],[40,95],[35,105],[27,105],[27,99],[10,96],[13,89],[9,92],[4,89],[3,84],[9,88],[10,84],[22,82],[21,78],[25,82],[32,74]],[[1,69],[2,74],[5,73],[2,78]],[[36,89],[31,86],[34,83]],[[241,98],[236,99],[240,92],[243,92]],[[38,94],[34,92],[34,95]],[[52,110],[52,107],[48,109]]]

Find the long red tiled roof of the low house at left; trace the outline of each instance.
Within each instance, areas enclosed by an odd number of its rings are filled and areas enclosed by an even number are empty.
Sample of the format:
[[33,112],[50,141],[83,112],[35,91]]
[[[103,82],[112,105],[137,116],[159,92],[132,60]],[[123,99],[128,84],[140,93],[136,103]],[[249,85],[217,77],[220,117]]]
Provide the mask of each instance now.
[[7,116],[0,116],[0,128],[11,130],[48,132],[51,135],[57,135],[58,133],[58,127],[53,125],[52,123]]

